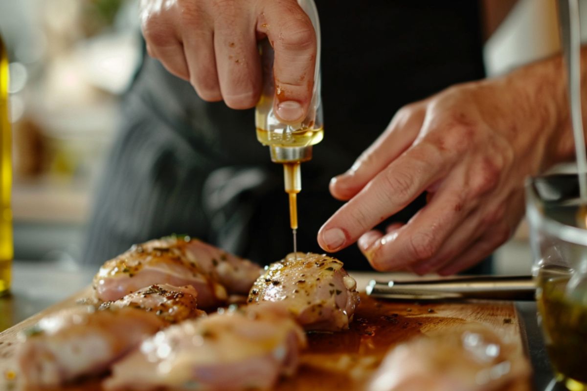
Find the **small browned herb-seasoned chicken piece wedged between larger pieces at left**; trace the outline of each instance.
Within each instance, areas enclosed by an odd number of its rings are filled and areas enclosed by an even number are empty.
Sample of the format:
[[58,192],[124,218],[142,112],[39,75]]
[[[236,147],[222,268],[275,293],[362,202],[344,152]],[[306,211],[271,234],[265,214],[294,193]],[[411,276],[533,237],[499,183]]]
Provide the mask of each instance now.
[[151,285],[129,293],[116,301],[107,301],[100,305],[105,308],[133,307],[144,311],[153,311],[156,315],[169,323],[181,322],[185,319],[205,316],[204,311],[198,310],[198,293],[191,285],[174,287],[169,284]]

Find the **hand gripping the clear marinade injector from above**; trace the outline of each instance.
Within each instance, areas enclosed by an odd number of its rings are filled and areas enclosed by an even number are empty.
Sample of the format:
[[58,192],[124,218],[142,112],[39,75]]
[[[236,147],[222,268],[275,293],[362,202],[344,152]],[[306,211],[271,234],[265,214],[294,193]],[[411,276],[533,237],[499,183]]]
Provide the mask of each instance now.
[[316,35],[295,0],[141,0],[149,55],[207,101],[250,108],[261,94],[257,40],[275,50],[281,120],[302,120],[312,98]]

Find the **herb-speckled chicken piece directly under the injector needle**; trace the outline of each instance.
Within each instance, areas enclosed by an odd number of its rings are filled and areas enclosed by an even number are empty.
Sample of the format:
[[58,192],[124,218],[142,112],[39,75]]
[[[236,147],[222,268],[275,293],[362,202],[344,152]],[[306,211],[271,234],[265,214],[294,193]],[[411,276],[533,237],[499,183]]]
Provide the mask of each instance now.
[[356,281],[341,261],[325,254],[288,254],[255,281],[248,302],[284,302],[306,330],[349,327],[359,304]]

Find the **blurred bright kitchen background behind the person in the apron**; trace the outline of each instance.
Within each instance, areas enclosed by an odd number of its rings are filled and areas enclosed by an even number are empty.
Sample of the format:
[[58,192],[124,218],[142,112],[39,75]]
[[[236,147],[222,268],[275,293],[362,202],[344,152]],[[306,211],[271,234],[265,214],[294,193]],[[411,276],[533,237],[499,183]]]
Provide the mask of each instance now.
[[[117,103],[141,57],[137,2],[2,1],[0,31],[11,59],[15,259],[75,268]],[[558,50],[555,0],[520,0],[485,46],[487,73]],[[522,224],[497,252],[497,272],[529,264]]]

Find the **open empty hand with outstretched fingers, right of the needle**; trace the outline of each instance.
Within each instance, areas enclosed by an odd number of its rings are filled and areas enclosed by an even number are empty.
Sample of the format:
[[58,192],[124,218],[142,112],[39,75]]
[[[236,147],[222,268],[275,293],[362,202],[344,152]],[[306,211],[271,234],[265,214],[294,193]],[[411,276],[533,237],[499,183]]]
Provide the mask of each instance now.
[[[559,60],[461,84],[402,108],[330,192],[349,200],[318,242],[359,240],[378,270],[453,274],[491,254],[524,213],[524,178],[572,156]],[[372,230],[423,192],[406,225]]]

